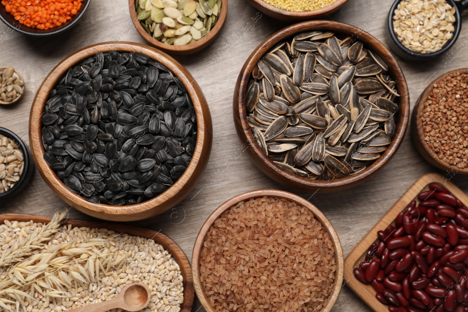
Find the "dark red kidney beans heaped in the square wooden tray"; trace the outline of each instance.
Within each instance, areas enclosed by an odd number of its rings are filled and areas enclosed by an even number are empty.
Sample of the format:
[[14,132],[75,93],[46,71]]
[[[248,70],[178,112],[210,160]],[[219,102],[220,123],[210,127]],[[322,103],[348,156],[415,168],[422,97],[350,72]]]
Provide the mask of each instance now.
[[377,232],[354,276],[391,312],[468,312],[468,209],[437,183]]

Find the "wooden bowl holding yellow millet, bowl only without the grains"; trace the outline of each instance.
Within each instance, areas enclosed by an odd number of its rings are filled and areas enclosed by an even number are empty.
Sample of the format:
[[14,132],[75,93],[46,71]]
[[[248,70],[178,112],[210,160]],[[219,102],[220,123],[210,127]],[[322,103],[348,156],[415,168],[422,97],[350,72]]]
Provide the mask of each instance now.
[[337,9],[342,7],[344,3],[348,0],[336,0],[334,3],[329,6],[322,7],[321,9],[307,12],[292,12],[287,10],[279,9],[278,7],[273,7],[271,4],[266,3],[263,0],[247,0],[249,3],[255,7],[260,12],[276,18],[280,21],[285,22],[300,22],[307,20],[315,20],[319,18],[327,18],[329,14],[332,14]]

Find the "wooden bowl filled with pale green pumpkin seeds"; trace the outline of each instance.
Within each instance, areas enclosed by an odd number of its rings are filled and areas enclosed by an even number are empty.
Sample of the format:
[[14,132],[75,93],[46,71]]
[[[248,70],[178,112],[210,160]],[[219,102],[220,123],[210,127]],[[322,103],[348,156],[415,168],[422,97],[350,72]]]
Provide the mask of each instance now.
[[188,55],[205,49],[226,21],[227,0],[129,0],[132,22],[158,49]]

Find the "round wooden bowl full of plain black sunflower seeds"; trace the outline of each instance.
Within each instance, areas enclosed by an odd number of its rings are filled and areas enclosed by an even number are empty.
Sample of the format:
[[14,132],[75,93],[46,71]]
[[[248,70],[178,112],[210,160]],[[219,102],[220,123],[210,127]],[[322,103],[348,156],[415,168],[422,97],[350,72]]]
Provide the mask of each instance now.
[[29,116],[36,167],[67,204],[110,221],[181,202],[208,162],[212,121],[190,73],[136,43],[102,43],[45,78]]

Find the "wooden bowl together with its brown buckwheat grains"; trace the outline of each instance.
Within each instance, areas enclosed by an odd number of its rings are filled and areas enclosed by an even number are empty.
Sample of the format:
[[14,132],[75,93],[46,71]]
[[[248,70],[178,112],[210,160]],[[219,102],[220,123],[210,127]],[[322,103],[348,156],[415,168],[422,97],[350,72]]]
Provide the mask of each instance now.
[[468,68],[426,87],[411,119],[413,142],[425,160],[451,174],[468,174]]

